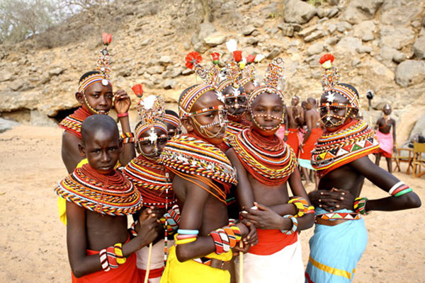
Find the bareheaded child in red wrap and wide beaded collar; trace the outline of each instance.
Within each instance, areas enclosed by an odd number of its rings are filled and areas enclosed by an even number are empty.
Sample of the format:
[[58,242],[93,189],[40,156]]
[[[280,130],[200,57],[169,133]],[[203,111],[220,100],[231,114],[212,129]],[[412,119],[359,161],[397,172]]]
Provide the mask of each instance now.
[[115,121],[91,115],[82,123],[81,138],[79,151],[89,163],[55,188],[67,200],[72,282],[140,282],[134,252],[157,237],[157,218],[150,212],[140,216],[137,236],[129,241],[127,215],[140,209],[142,199],[114,170],[123,151]]

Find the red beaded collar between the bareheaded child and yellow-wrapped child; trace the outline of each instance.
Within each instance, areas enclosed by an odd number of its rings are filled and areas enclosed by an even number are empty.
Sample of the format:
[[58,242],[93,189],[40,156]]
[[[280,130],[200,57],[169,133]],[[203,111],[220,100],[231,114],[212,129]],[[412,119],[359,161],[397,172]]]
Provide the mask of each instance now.
[[123,174],[140,191],[144,206],[164,208],[166,204],[172,206],[176,202],[172,183],[157,159],[140,154],[125,166]]

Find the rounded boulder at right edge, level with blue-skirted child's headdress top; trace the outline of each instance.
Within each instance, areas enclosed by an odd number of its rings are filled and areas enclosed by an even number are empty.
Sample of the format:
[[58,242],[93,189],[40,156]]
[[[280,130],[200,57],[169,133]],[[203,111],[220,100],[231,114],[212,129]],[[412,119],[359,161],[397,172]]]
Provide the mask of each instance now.
[[401,62],[395,70],[395,81],[399,86],[407,87],[425,79],[425,62],[406,60]]

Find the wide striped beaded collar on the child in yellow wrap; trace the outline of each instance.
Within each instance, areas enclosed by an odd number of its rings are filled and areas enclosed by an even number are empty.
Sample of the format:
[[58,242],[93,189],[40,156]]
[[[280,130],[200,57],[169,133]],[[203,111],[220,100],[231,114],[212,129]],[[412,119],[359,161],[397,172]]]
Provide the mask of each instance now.
[[192,183],[198,185],[192,179],[200,180],[207,185],[201,186],[204,190],[224,203],[230,186],[237,185],[236,170],[225,153],[195,136],[181,134],[173,137],[162,151],[159,163]]

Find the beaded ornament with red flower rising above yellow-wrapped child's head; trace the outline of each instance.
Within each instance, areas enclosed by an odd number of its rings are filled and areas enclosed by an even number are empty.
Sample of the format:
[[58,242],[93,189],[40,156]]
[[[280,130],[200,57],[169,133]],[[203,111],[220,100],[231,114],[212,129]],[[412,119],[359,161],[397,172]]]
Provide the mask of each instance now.
[[220,67],[218,63],[220,62],[220,53],[212,52],[212,66],[209,68],[203,67],[202,63],[203,58],[198,52],[189,52],[186,55],[186,67],[192,69],[204,83],[208,83],[212,86],[217,86],[220,83]]

